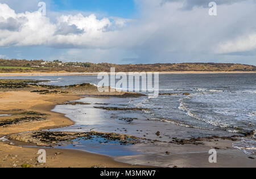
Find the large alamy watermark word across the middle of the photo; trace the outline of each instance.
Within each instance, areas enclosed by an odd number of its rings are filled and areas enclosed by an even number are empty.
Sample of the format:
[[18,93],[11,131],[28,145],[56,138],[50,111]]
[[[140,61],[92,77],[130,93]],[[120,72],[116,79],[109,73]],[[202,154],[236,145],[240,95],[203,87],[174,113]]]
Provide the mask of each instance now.
[[156,98],[159,95],[159,73],[115,73],[115,68],[109,73],[98,73],[99,92],[148,92],[148,97]]

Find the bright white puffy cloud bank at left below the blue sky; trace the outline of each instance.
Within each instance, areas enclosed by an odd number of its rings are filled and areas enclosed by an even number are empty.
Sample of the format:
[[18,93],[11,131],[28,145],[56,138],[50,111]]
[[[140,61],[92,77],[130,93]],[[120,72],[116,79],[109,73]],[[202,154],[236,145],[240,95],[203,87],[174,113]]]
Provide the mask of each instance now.
[[[16,22],[14,27],[5,27],[5,24],[10,26],[10,18]],[[9,6],[0,3],[0,46],[104,48],[102,45],[106,44],[108,34],[124,25],[124,19],[97,19],[94,14],[61,15],[56,23],[52,23],[38,11],[16,14]]]

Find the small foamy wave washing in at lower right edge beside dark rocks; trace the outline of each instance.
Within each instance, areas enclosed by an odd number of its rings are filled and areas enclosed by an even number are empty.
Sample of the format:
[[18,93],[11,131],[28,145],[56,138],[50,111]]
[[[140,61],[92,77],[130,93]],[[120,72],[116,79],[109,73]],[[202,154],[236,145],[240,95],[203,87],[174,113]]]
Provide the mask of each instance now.
[[241,142],[233,143],[234,148],[242,150],[245,154],[250,156],[256,156],[256,139],[254,138],[242,138]]

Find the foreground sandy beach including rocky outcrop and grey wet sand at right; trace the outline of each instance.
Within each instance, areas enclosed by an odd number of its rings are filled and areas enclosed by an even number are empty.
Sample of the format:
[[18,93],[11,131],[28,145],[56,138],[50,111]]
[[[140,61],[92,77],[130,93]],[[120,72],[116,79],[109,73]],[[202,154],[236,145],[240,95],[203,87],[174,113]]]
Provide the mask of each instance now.
[[[10,84],[3,81],[4,84]],[[6,83],[7,82],[7,83]],[[12,82],[14,86],[19,86],[19,81]],[[2,87],[5,87],[3,85]],[[32,92],[38,90],[38,92]],[[52,91],[49,88],[28,86],[24,88],[2,88],[0,92],[0,114],[11,114],[12,116],[1,116],[0,123],[14,121],[8,125],[0,125],[0,137],[8,136],[28,131],[42,129],[53,129],[73,125],[64,114],[55,113],[51,110],[57,104],[67,101],[81,99],[80,95],[102,95],[98,93],[94,86],[72,86],[69,88],[57,88]],[[105,93],[104,95],[124,95],[125,93]],[[36,117],[40,118],[40,120]],[[28,120],[26,120],[28,118]],[[22,119],[23,121],[15,121]],[[175,127],[172,125],[171,127]],[[174,128],[175,129],[175,128]],[[22,134],[20,134],[22,135]],[[160,154],[170,161],[169,167],[255,167],[256,161],[242,151],[232,147],[234,141],[241,140],[241,137],[233,138],[201,138],[196,140],[176,140],[171,144],[172,155],[161,148],[155,148]],[[13,141],[13,143],[0,142],[0,167],[20,167],[28,164],[30,167],[143,167],[147,165],[147,160],[154,155],[145,156],[122,156],[109,157],[91,154],[77,150],[63,150],[46,148],[47,163],[40,164],[36,161],[37,152],[40,147],[20,147],[35,146],[33,143]],[[197,143],[200,143],[198,145]],[[218,151],[218,163],[208,162],[209,154],[206,151],[215,149]],[[175,153],[179,151],[179,154]],[[183,152],[183,154],[180,154]],[[143,158],[143,163],[137,160]],[[126,164],[127,159],[133,161],[133,165]],[[238,162],[239,161],[239,162]],[[149,162],[148,162],[149,163]],[[136,165],[134,165],[136,164]],[[159,165],[158,167],[162,167]]]

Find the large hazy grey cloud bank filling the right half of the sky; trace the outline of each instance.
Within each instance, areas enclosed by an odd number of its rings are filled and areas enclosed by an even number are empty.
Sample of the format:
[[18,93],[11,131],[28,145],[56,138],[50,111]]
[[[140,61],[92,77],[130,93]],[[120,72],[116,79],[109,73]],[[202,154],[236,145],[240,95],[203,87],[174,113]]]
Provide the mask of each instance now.
[[[162,1],[137,1],[142,20],[137,25],[143,29],[140,36],[147,38],[138,42],[134,51],[138,54],[138,61],[148,62],[229,62],[243,58],[250,50],[255,50],[253,41],[256,16],[254,1],[240,1],[238,3],[225,3],[217,6],[217,16],[209,16],[208,8],[195,6],[189,11],[181,10],[184,3],[172,1],[161,4]],[[191,1],[192,3],[192,1]],[[250,37],[250,38],[249,38]],[[142,39],[142,38],[140,38]],[[243,45],[235,48],[243,40]],[[246,40],[247,39],[247,40]],[[229,44],[233,47],[229,49]],[[236,43],[235,43],[236,42]],[[255,41],[254,41],[255,42]],[[225,46],[220,46],[224,44]],[[226,52],[245,52],[240,57]],[[222,49],[222,50],[221,50]],[[225,53],[225,55],[221,55]],[[247,63],[255,64],[255,56],[247,56]]]

